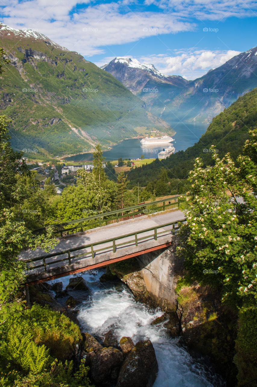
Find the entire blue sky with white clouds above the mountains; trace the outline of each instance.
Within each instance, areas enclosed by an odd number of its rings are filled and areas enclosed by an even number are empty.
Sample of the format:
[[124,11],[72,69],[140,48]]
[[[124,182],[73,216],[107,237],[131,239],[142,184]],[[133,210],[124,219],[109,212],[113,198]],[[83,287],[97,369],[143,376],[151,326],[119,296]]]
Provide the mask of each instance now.
[[136,58],[186,79],[257,46],[252,0],[0,0],[0,21],[45,34],[98,66]]

